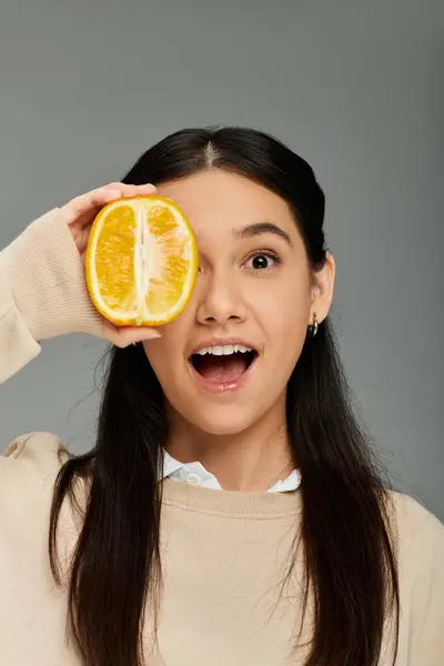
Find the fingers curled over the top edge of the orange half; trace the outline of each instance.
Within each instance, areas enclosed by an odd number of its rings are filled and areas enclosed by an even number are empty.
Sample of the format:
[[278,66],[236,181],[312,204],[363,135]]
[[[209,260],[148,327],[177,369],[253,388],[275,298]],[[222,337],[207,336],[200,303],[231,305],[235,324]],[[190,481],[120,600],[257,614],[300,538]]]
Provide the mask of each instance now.
[[128,196],[140,196],[155,194],[157,188],[152,184],[127,185],[124,183],[109,183],[103,188],[98,188],[80,196],[75,196],[67,203],[62,211],[67,216],[68,224],[72,224],[83,219],[85,223],[90,221],[90,215],[94,215],[111,201]]

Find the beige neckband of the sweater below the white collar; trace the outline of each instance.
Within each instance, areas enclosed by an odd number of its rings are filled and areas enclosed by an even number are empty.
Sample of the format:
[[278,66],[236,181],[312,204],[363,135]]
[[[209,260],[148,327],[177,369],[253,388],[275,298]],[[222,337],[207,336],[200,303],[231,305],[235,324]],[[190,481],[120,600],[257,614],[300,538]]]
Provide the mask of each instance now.
[[300,514],[301,491],[258,493],[220,491],[171,478],[161,481],[162,503],[200,514],[243,519],[275,519]]

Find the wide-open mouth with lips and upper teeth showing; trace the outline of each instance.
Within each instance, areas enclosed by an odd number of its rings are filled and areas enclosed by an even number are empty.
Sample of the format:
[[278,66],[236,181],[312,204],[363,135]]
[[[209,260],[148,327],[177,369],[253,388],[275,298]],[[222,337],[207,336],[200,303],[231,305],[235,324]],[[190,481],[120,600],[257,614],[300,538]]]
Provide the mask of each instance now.
[[214,384],[238,382],[251,367],[258,352],[241,344],[226,344],[203,347],[190,357],[194,370],[206,381]]

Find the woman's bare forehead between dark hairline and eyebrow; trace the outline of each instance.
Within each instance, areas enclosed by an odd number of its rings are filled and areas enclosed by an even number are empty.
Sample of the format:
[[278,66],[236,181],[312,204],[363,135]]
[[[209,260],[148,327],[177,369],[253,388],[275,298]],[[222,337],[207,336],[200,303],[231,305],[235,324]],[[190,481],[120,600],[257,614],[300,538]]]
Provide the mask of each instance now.
[[291,233],[295,223],[286,202],[253,181],[220,169],[203,171],[158,186],[189,218],[198,236],[212,230],[231,233],[245,224],[273,222]]

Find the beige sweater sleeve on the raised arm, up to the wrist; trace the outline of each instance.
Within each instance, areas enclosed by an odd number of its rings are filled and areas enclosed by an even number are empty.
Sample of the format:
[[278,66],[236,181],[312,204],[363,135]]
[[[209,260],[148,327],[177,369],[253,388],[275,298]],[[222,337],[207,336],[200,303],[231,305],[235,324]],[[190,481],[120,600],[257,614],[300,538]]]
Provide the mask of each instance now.
[[0,253],[0,383],[40,353],[40,342],[65,333],[101,336],[84,268],[58,209]]

